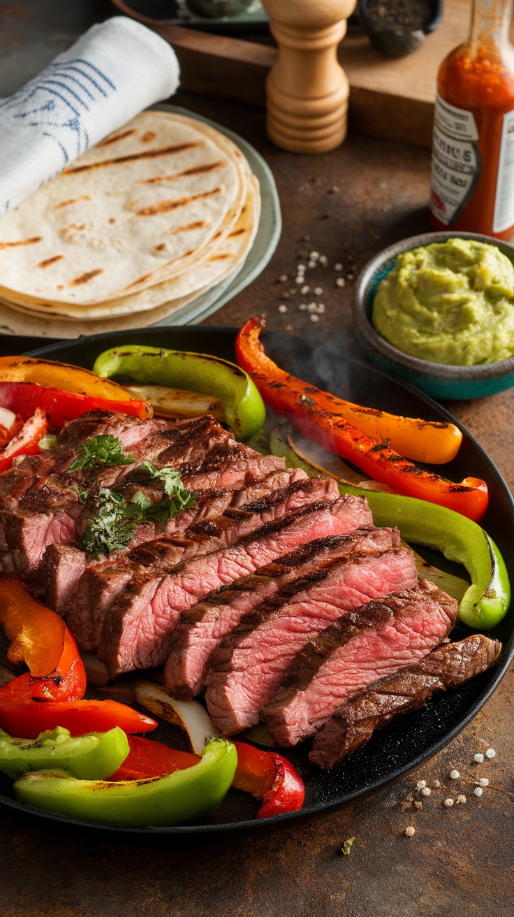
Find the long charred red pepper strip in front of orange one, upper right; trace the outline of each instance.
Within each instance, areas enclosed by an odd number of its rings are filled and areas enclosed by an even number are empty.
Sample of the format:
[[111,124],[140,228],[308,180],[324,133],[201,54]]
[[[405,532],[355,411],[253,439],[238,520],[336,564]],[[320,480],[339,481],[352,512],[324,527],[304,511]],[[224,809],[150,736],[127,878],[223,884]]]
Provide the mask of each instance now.
[[[259,392],[277,414],[284,414],[305,436],[341,458],[351,461],[374,481],[395,491],[438,503],[476,522],[487,510],[487,484],[479,478],[454,483],[432,471],[424,471],[388,447],[357,430],[343,417],[326,411],[320,390],[307,385],[269,359],[260,342],[266,326],[263,317],[251,318],[237,335],[235,352],[239,364],[256,382]],[[322,393],[324,396],[324,392]]]

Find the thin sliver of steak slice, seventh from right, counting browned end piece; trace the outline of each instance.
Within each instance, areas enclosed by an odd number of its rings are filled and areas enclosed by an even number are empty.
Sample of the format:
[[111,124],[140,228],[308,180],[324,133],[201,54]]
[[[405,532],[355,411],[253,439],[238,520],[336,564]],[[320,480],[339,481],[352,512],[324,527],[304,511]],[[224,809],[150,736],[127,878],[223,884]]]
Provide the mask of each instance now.
[[[198,503],[188,510],[183,510],[176,516],[173,516],[164,529],[159,533],[157,526],[151,523],[139,525],[134,535],[134,539],[126,548],[120,548],[111,555],[109,562],[114,565],[111,570],[115,569],[120,557],[130,553],[134,547],[142,545],[145,542],[153,541],[155,538],[173,536],[174,534],[183,533],[185,529],[195,522],[205,522],[208,519],[215,519],[224,514],[227,509],[239,509],[246,503],[260,500],[263,496],[275,490],[281,490],[290,483],[304,480],[307,477],[301,469],[284,469],[271,471],[262,481],[256,481],[241,491],[207,491],[197,493]],[[153,552],[154,547],[149,546],[148,552]],[[154,552],[157,554],[157,551]],[[135,559],[137,563],[148,561],[137,553]],[[151,556],[148,562],[153,562],[155,558]],[[88,558],[86,554],[78,547],[72,545],[50,545],[43,556],[38,578],[40,579],[43,591],[50,608],[63,614],[66,605],[71,599],[73,591],[77,588],[78,582],[86,569],[95,569],[99,564],[107,562],[107,558],[101,555],[99,558]],[[114,574],[109,573],[110,576]],[[125,581],[125,580],[124,580]]]

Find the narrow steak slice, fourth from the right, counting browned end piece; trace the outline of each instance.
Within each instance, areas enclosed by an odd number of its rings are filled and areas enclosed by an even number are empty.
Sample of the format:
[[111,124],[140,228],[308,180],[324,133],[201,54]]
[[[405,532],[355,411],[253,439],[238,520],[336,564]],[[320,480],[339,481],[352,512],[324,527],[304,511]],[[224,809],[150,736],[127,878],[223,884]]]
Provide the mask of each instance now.
[[[391,534],[394,533],[394,534]],[[347,535],[317,538],[291,554],[273,560],[248,577],[223,586],[184,612],[171,638],[164,670],[167,691],[173,697],[191,698],[205,687],[213,654],[237,624],[261,602],[268,601],[291,580],[322,569],[328,558],[359,550],[398,547],[396,529],[354,529]]]

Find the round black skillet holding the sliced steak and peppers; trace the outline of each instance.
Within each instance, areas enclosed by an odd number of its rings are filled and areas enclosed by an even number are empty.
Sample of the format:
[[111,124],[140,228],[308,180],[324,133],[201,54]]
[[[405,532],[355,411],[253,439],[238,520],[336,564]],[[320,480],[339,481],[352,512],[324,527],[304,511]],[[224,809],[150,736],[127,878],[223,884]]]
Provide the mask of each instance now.
[[[216,326],[154,327],[83,337],[78,341],[62,341],[39,348],[32,353],[91,368],[94,359],[105,348],[140,343],[213,353],[224,359],[233,360],[235,333],[235,328]],[[357,360],[341,358],[299,337],[268,332],[266,349],[270,357],[279,361],[285,370],[354,402],[382,408],[395,414],[410,414],[436,421],[451,420],[456,423],[451,414],[410,385],[369,369]],[[476,475],[487,481],[491,499],[484,526],[497,542],[509,569],[510,578],[514,581],[514,503],[509,488],[473,436],[467,433],[462,425],[459,426],[465,434],[464,441],[457,458],[446,466],[447,474],[458,481],[466,474]],[[465,633],[468,633],[468,628],[458,624],[454,635]],[[384,787],[391,780],[432,757],[458,735],[497,688],[514,657],[514,615],[508,614],[490,635],[498,637],[503,643],[502,654],[495,668],[472,679],[456,691],[435,695],[421,711],[399,716],[387,729],[377,732],[368,745],[333,770],[325,773],[310,764],[307,755],[311,743],[303,743],[301,746],[288,749],[287,756],[300,770],[305,781],[305,805],[301,812],[290,812],[257,821],[255,816],[258,802],[246,793],[230,790],[224,803],[202,822],[162,828],[126,828],[118,825],[98,825],[49,812],[38,812],[22,805],[9,795],[11,784],[7,779],[0,782],[0,801],[35,817],[129,834],[216,834],[222,831],[253,832],[287,826],[293,821],[344,806]],[[162,728],[165,727],[159,726],[159,730],[152,735],[165,740]]]

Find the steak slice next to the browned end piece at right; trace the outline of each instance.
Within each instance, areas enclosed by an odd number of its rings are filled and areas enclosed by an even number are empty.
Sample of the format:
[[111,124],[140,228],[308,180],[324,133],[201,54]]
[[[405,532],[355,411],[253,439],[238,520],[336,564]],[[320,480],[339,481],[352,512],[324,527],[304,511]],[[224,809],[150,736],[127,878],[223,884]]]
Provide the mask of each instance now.
[[458,604],[428,580],[369,602],[313,637],[264,709],[280,746],[318,732],[346,698],[415,664],[454,626]]

